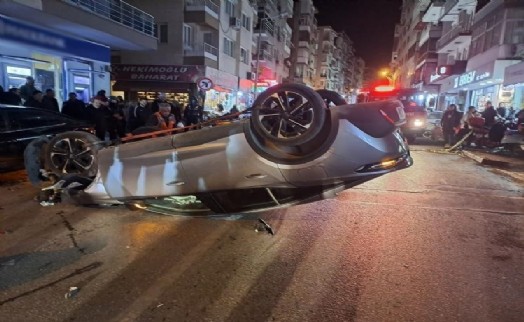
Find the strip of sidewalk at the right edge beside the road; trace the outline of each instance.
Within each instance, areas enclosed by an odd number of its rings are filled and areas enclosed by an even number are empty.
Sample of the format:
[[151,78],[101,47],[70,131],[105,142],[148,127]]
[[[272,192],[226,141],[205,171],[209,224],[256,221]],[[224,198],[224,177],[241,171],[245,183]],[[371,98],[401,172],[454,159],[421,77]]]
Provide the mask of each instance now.
[[460,151],[459,154],[475,160],[479,164],[491,167],[493,172],[500,173],[524,183],[524,155],[520,157],[505,156],[488,153],[482,150],[463,150]]

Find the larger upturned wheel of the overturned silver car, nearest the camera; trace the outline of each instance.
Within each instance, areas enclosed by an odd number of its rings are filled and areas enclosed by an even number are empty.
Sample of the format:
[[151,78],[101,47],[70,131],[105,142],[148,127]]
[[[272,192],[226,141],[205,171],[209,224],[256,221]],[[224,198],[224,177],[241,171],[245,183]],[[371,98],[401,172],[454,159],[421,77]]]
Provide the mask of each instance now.
[[301,84],[279,84],[261,93],[252,107],[250,124],[263,139],[284,146],[315,140],[327,109],[322,97]]

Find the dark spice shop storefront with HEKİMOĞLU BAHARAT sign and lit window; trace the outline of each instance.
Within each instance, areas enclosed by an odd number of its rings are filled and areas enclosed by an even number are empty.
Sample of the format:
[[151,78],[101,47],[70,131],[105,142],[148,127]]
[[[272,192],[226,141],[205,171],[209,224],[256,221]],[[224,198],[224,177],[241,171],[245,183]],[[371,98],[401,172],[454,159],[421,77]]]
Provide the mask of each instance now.
[[198,97],[196,83],[204,75],[205,67],[200,65],[113,64],[111,94],[128,101],[153,101],[162,95],[186,105],[190,95]]

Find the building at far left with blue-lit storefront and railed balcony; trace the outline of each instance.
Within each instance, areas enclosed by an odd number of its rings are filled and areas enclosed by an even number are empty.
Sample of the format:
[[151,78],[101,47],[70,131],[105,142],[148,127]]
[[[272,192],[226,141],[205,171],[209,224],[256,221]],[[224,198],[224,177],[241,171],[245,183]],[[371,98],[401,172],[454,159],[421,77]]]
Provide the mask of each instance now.
[[155,50],[154,18],[119,0],[0,1],[0,85],[20,87],[27,76],[84,102],[110,91],[110,51]]

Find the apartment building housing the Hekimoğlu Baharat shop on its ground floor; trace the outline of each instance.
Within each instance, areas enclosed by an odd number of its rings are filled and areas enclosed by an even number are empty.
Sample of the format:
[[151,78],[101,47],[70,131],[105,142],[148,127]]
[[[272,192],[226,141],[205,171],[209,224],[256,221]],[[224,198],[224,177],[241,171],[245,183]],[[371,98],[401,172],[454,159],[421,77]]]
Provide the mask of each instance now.
[[157,22],[158,48],[114,51],[114,91],[180,104],[191,96],[206,108],[251,104],[254,4],[248,0],[140,1]]

